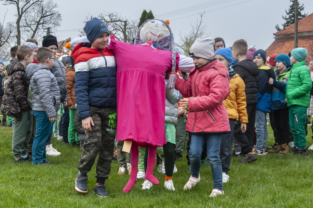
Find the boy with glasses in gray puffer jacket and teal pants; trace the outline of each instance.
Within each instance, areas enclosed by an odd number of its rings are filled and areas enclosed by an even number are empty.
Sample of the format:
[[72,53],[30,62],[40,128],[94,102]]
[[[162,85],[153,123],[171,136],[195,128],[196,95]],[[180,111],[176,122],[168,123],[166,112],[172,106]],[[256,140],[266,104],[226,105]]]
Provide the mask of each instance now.
[[46,143],[52,136],[56,111],[60,107],[60,90],[58,82],[50,71],[54,64],[54,55],[49,48],[38,49],[37,61],[26,68],[30,79],[30,88],[34,97],[33,114],[36,118],[36,134],[33,141],[33,164],[52,165],[47,161]]

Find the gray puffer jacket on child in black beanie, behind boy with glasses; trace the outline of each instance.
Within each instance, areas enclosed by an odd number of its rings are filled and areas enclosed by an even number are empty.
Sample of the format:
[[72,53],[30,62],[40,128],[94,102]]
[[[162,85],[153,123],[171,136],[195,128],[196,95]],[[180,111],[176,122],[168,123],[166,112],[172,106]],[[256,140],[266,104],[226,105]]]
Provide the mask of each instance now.
[[60,89],[61,102],[68,101],[67,85],[66,85],[66,72],[64,64],[59,60],[55,59],[53,64],[53,75],[58,82]]

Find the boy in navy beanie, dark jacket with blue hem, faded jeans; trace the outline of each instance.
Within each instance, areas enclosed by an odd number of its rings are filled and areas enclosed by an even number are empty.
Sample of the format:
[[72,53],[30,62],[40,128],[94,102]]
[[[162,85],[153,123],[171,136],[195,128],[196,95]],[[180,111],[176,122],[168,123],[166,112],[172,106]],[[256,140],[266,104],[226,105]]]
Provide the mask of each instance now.
[[259,92],[258,92],[258,104],[255,112],[255,132],[256,144],[255,154],[268,155],[266,150],[267,143],[267,119],[266,113],[271,110],[272,91],[273,86],[270,85],[269,78],[275,79],[274,70],[268,66],[264,66],[266,62],[266,52],[259,49],[253,53],[253,62],[259,67]]

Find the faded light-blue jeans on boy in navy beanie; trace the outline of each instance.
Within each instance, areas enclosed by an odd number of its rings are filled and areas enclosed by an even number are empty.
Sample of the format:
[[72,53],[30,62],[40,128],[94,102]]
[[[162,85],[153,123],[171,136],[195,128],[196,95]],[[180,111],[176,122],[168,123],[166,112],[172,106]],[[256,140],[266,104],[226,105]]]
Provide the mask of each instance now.
[[266,113],[263,111],[255,111],[255,132],[256,132],[256,145],[255,149],[261,151],[266,149],[267,142],[267,120]]

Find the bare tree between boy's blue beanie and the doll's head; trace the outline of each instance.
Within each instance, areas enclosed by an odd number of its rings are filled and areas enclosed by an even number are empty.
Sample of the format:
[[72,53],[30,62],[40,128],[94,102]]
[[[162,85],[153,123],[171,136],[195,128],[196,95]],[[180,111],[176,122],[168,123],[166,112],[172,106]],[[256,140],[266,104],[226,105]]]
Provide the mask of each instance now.
[[[85,22],[94,18],[92,15],[88,15],[85,18]],[[110,35],[115,35],[117,40],[132,43],[133,38],[136,35],[137,24],[130,18],[121,17],[118,12],[108,12],[107,14],[99,14],[97,18],[104,21],[108,27]],[[80,31],[81,35],[85,35],[83,31]]]

